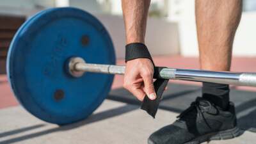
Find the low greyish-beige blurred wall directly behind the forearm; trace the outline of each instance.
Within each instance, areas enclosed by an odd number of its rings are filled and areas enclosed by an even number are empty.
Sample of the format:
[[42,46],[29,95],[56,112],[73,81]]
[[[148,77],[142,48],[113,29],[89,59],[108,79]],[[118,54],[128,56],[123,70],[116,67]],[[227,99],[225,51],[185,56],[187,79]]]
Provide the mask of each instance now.
[[[108,29],[115,46],[116,57],[125,56],[125,29],[122,17],[96,15]],[[179,54],[178,26],[174,22],[148,19],[146,44],[152,55]]]

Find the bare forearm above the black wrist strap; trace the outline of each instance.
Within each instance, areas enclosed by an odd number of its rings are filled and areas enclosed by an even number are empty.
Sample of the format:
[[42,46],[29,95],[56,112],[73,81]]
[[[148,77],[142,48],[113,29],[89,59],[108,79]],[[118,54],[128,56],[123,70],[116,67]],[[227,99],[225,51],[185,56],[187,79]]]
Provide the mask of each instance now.
[[147,15],[150,0],[122,0],[126,43],[145,43]]

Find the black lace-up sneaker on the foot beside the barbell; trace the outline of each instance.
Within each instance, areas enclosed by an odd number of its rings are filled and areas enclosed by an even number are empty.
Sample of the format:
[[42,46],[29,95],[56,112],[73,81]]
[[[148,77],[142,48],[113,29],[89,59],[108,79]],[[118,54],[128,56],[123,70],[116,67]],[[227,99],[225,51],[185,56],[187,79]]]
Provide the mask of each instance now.
[[198,144],[226,140],[241,134],[232,102],[223,111],[206,99],[198,97],[177,118],[179,120],[173,124],[151,134],[148,144]]

